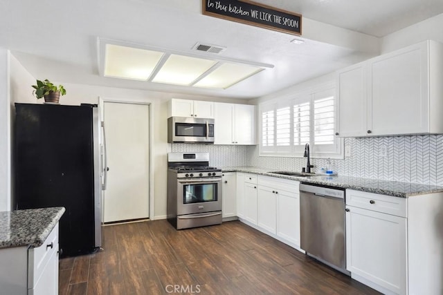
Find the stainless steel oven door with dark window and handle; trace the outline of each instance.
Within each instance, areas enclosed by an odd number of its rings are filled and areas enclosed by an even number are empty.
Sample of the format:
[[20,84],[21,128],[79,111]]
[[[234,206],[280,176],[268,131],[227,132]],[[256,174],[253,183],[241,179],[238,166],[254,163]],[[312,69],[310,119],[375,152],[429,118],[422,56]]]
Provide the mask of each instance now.
[[177,182],[177,215],[221,211],[221,178]]

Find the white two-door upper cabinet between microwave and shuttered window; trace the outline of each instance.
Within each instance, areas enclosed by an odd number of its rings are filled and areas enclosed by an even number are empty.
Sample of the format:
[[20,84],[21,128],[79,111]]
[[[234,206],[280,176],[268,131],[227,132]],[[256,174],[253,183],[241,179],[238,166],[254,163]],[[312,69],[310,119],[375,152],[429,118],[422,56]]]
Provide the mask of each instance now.
[[255,106],[215,102],[215,144],[256,144]]

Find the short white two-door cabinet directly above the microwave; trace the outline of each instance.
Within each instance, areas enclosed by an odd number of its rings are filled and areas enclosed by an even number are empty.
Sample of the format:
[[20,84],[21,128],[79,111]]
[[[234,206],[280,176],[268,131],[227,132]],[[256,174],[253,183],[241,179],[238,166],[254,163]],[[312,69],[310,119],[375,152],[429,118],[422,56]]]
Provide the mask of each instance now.
[[168,117],[200,117],[213,119],[214,102],[173,98],[168,105]]

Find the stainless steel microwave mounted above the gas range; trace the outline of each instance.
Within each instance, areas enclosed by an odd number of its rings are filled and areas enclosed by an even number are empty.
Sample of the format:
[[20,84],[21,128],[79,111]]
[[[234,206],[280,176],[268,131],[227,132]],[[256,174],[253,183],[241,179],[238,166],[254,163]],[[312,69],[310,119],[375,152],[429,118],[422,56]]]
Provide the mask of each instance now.
[[168,118],[168,142],[214,142],[214,119]]

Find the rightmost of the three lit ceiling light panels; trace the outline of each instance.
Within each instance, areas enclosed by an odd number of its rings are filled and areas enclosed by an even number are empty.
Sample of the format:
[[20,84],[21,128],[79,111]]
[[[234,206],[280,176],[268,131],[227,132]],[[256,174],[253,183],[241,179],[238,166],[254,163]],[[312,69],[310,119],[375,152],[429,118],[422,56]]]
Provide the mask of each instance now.
[[261,72],[264,68],[246,64],[224,63],[193,86],[204,88],[229,88],[238,82]]

